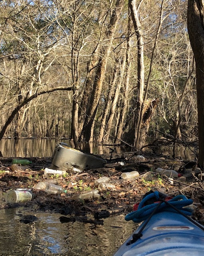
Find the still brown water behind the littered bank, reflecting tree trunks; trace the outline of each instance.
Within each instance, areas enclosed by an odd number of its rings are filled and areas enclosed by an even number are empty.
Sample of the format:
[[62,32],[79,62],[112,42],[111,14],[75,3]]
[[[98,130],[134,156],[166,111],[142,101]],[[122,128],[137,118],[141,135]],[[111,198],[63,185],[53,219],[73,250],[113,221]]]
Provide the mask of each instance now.
[[[4,157],[51,157],[56,144],[59,142],[64,142],[74,147],[73,142],[63,139],[2,139],[0,140],[0,151]],[[112,152],[113,149],[112,146],[96,144],[84,144],[81,146],[84,152],[92,154],[108,154]],[[124,147],[116,147],[114,150],[117,154],[121,154],[126,151]],[[164,156],[172,155],[172,147],[163,149],[162,152]],[[177,149],[176,156],[187,160],[194,160],[195,157],[192,151],[182,147]]]

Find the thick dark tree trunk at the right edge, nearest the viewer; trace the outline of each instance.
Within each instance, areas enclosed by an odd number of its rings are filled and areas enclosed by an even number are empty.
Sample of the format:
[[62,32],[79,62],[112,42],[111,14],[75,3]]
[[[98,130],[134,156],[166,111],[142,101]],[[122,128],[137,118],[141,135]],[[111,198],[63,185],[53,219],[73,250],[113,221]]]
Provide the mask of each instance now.
[[196,62],[196,90],[198,107],[198,163],[204,167],[204,2],[188,0],[188,34]]

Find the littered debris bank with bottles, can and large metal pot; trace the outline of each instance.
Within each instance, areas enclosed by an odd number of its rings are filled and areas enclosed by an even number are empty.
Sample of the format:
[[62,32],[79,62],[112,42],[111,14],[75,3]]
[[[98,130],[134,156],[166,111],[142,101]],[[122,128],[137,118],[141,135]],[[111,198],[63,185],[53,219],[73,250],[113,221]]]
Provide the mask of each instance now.
[[0,174],[6,204],[1,207],[33,204],[37,210],[54,210],[64,215],[85,211],[99,216],[100,211],[108,211],[110,216],[131,211],[143,194],[155,189],[194,196],[199,216],[204,205],[203,177],[193,161],[134,152],[115,154],[108,160],[63,143],[57,144],[48,160],[12,159]]

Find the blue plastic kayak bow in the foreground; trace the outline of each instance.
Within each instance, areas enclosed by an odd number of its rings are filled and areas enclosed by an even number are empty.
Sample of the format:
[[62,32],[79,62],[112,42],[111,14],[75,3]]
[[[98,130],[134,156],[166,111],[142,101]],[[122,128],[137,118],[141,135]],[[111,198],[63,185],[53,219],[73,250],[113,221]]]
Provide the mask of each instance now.
[[[145,222],[133,233],[137,234]],[[154,214],[136,242],[133,234],[114,256],[192,256],[204,255],[204,230],[179,213]]]

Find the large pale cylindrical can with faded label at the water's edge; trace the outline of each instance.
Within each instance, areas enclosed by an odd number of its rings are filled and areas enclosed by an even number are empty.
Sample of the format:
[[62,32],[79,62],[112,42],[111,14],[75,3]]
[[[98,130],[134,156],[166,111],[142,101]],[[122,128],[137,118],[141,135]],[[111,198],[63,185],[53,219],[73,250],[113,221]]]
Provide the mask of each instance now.
[[35,194],[31,190],[8,190],[5,195],[5,200],[8,204],[29,202],[35,198]]

